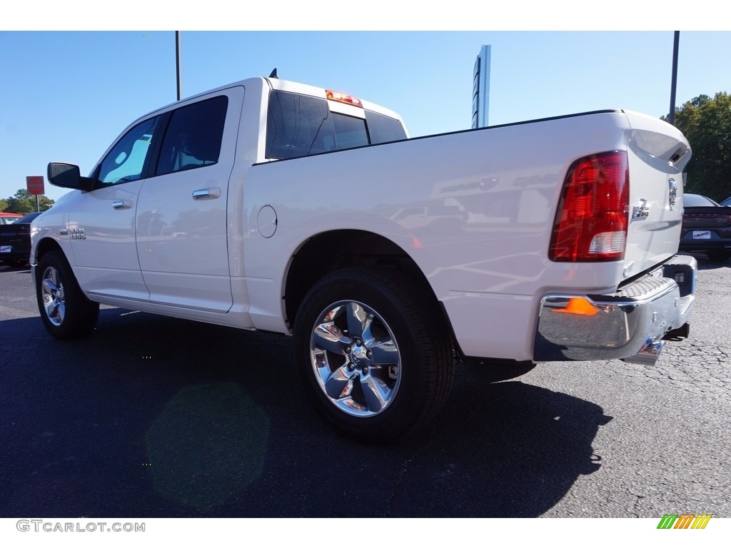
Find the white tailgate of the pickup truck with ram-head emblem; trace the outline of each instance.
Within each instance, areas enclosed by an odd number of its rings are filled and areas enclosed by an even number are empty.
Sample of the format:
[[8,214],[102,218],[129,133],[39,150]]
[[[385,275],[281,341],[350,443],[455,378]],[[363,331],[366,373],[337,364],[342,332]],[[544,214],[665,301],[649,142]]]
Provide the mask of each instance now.
[[629,229],[624,275],[631,277],[678,252],[683,221],[683,170],[691,149],[683,134],[658,118],[626,112],[631,131]]

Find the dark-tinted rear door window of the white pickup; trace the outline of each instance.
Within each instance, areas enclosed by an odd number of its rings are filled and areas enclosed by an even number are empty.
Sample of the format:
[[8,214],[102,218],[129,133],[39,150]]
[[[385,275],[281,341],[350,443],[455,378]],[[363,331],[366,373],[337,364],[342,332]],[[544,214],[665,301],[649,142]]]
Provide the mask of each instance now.
[[173,111],[156,175],[216,164],[221,153],[228,97],[221,95]]

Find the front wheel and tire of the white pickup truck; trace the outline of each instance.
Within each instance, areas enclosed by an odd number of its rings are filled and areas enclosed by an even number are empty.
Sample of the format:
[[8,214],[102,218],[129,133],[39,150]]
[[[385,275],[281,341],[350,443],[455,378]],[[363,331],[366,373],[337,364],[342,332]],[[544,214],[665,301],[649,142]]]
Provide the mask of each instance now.
[[99,303],[86,298],[61,251],[44,254],[37,269],[36,298],[43,325],[61,340],[81,338],[94,330]]

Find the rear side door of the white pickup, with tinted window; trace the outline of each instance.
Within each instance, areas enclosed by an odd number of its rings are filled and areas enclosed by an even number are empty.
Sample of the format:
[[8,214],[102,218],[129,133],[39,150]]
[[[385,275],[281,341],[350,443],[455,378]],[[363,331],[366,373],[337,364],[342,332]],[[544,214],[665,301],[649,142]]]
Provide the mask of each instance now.
[[232,306],[227,190],[243,94],[236,86],[169,113],[137,204],[137,254],[151,302],[219,313]]

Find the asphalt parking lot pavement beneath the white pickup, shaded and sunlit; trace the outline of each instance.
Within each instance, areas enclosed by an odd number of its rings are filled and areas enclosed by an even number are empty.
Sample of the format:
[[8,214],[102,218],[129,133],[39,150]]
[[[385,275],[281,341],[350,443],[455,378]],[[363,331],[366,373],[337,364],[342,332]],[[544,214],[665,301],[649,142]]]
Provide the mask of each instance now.
[[731,517],[731,261],[656,365],[458,369],[420,435],[338,437],[278,335],[103,307],[50,338],[0,265],[1,517]]

